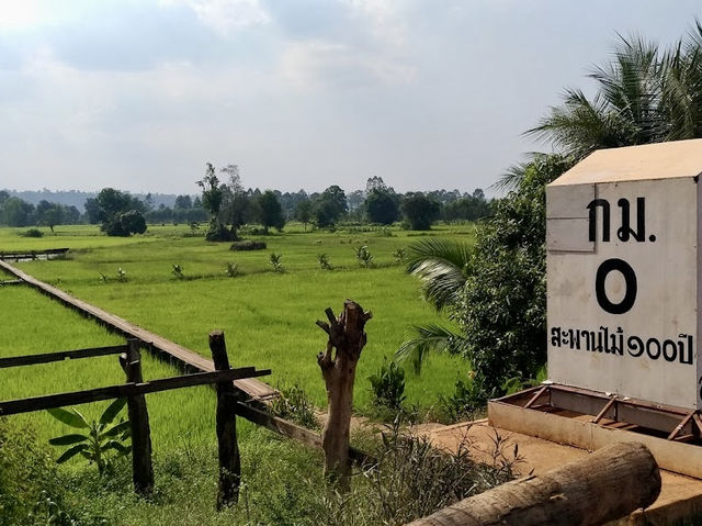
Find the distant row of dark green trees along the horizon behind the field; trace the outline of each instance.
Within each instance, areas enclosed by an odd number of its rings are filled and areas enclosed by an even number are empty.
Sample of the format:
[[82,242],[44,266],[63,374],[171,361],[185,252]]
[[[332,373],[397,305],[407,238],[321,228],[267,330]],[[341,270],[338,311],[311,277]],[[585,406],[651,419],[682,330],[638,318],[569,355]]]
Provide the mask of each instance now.
[[[47,200],[34,205],[0,191],[0,224],[8,226],[54,226],[100,224],[109,235],[129,235],[146,224],[197,224],[211,221],[211,238],[234,239],[242,225],[259,224],[263,234],[282,230],[290,221],[327,228],[340,222],[389,225],[401,221],[407,228],[428,230],[435,221],[475,221],[490,214],[491,203],[482,189],[398,193],[381,177],[367,180],[365,190],[347,194],[332,184],[322,192],[281,192],[245,189],[236,165],[215,169],[207,164],[197,181],[201,195],[178,195],[172,206],[155,205],[150,194],[136,197],[103,188],[84,201],[84,212],[75,205]],[[213,223],[214,220],[214,223]],[[225,227],[226,225],[226,227]],[[226,232],[225,232],[226,231]]]

